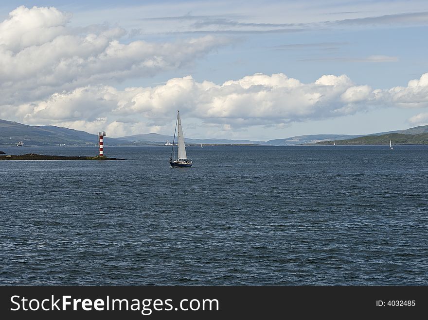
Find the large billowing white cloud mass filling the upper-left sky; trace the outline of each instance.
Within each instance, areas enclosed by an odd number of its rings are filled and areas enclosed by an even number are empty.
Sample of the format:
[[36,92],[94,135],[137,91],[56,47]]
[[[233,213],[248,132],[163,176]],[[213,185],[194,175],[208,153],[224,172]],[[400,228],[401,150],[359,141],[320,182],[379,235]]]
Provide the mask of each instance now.
[[229,40],[211,35],[175,42],[121,42],[107,24],[68,26],[54,7],[18,7],[0,23],[0,104],[33,101],[92,83],[152,76],[188,64]]

